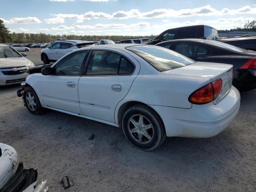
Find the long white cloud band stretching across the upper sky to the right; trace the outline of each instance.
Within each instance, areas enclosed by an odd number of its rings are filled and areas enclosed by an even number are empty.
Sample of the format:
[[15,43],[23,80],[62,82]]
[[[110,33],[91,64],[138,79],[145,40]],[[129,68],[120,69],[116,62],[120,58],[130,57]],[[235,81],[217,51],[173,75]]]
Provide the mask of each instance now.
[[[90,20],[90,19],[128,19],[128,18],[140,18],[140,19],[150,19],[150,18],[172,18],[172,17],[192,17],[192,16],[225,16],[225,15],[236,15],[236,14],[256,14],[256,7],[244,6],[238,9],[228,9],[223,8],[222,10],[216,10],[212,8],[210,5],[202,6],[199,8],[192,9],[155,9],[150,10],[148,12],[140,12],[138,9],[131,9],[129,11],[120,10],[114,12],[112,14],[104,13],[104,12],[86,12],[84,14],[54,14],[56,18],[62,18],[61,22],[63,23],[64,19],[74,19],[78,22],[82,22],[82,20]],[[52,18],[54,19],[54,18]],[[166,19],[163,22],[168,22]]]

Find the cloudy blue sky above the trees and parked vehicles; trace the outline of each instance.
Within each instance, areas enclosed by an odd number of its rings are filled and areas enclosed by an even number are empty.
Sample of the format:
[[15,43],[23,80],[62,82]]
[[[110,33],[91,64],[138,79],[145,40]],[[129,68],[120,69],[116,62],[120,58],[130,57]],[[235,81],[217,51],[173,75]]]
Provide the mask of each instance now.
[[256,20],[256,0],[0,0],[11,32],[157,35],[180,26],[243,27]]

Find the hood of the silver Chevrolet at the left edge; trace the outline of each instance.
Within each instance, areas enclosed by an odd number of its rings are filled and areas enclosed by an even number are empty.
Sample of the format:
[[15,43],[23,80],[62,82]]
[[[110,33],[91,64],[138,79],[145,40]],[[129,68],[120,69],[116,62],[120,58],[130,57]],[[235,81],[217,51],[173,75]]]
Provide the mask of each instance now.
[[29,66],[29,62],[25,57],[0,58],[0,68]]

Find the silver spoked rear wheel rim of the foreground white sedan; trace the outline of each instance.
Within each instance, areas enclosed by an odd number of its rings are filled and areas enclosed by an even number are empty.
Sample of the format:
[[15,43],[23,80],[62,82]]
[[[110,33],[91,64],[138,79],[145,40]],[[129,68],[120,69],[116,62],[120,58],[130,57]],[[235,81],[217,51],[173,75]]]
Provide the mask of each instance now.
[[128,120],[128,131],[132,138],[141,144],[147,144],[154,138],[152,123],[143,115],[136,114]]

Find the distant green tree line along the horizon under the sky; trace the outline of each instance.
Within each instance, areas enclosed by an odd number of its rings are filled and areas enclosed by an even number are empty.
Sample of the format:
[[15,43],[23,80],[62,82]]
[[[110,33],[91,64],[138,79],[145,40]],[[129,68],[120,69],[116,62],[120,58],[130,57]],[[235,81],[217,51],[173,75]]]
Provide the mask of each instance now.
[[[256,32],[256,20],[253,20],[249,24],[245,24],[244,28],[237,27],[230,30],[218,30],[221,32],[231,31],[255,31]],[[58,38],[76,39],[76,40],[90,40],[99,41],[100,39],[111,39],[114,41],[120,41],[127,38],[150,38],[154,39],[156,35],[150,36],[122,36],[122,35],[51,35],[44,33],[10,33],[10,30],[5,27],[4,22],[0,20],[0,43],[48,43],[50,41],[57,40]]]

